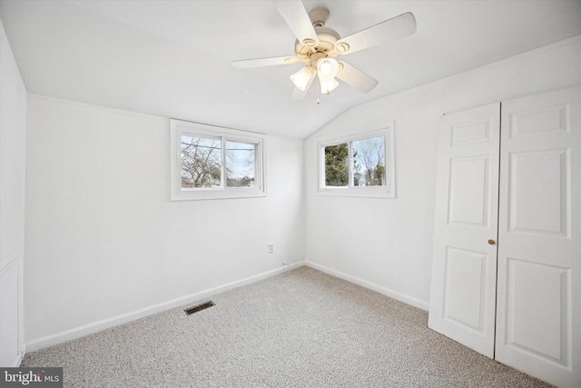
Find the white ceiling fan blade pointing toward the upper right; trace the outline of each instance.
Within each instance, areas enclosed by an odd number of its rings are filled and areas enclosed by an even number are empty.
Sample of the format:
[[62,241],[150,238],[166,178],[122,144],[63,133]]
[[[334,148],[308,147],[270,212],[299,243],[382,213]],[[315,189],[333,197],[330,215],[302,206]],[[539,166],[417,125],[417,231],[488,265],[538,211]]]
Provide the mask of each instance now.
[[412,35],[415,32],[416,18],[407,12],[381,22],[379,25],[370,26],[359,33],[345,36],[335,43],[335,48],[340,54],[351,54],[374,45],[382,45],[391,39]]

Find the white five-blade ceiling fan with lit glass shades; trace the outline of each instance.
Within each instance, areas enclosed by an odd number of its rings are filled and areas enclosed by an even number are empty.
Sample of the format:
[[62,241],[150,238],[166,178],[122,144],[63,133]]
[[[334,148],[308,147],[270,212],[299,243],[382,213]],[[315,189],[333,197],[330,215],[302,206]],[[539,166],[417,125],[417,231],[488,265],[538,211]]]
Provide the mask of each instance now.
[[304,62],[306,65],[291,75],[296,86],[293,100],[299,100],[307,93],[316,75],[319,75],[321,94],[329,95],[339,85],[335,78],[361,93],[368,93],[378,85],[378,81],[335,58],[416,32],[416,18],[408,12],[341,38],[337,31],[325,26],[329,18],[327,8],[318,7],[307,13],[300,0],[272,0],[272,3],[297,36],[295,55],[236,60],[231,64],[236,68],[250,68]]

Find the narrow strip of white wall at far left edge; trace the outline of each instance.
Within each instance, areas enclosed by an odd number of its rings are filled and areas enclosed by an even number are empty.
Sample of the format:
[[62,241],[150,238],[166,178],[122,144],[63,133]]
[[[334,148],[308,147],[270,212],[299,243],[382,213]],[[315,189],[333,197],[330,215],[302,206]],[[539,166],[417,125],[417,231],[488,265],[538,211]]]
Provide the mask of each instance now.
[[0,22],[0,366],[24,352],[26,89]]

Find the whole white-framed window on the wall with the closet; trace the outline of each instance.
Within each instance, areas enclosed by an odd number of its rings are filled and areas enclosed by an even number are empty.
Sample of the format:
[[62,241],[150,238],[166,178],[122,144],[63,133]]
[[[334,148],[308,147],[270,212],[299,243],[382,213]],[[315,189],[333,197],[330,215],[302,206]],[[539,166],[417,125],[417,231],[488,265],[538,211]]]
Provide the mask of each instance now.
[[393,130],[323,140],[319,190],[323,195],[395,198]]

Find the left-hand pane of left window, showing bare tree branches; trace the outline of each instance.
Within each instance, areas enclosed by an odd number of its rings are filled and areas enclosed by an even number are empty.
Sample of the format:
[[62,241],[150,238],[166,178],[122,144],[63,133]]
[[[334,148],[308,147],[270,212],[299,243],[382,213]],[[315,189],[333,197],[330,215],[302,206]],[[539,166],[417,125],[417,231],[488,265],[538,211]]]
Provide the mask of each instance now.
[[221,187],[220,139],[182,134],[182,188]]

